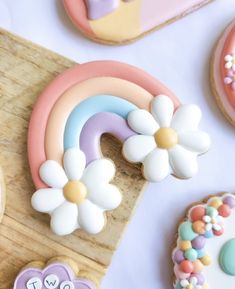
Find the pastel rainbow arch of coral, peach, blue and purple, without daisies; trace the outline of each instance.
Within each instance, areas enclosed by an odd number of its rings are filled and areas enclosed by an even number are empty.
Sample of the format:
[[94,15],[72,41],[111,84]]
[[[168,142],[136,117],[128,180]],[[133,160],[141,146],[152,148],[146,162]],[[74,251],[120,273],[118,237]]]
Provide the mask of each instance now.
[[135,134],[126,118],[136,108],[149,110],[154,96],[175,95],[133,66],[98,61],[77,65],[59,75],[39,96],[28,134],[28,156],[37,189],[45,188],[39,168],[46,160],[62,163],[64,152],[83,150],[87,164],[101,157],[100,137],[111,133],[124,141]]

